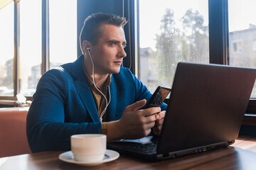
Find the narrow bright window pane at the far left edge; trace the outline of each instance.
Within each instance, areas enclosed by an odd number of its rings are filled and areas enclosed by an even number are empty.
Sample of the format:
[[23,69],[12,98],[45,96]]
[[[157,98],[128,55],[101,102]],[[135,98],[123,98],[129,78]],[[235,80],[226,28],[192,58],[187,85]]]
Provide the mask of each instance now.
[[14,2],[0,10],[0,96],[14,96]]

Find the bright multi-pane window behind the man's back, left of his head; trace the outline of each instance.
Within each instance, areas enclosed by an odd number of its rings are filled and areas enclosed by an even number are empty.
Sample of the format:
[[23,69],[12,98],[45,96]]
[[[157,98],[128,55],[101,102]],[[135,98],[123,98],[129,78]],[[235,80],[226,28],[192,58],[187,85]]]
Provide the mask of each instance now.
[[[42,67],[51,69],[76,59],[76,4],[77,1],[68,0],[51,0],[49,4],[48,0],[23,0],[1,8],[1,99],[16,100],[16,94],[33,96],[38,81],[44,73]],[[50,17],[48,17],[48,8]],[[16,16],[14,13],[17,13]],[[45,21],[42,18],[46,18],[46,23],[50,20],[50,36],[48,33],[43,33],[47,31],[42,30],[42,21]],[[48,29],[47,27],[48,24],[44,29]],[[50,40],[50,57],[43,55],[46,54],[45,49],[49,49],[49,47],[43,48],[48,45],[48,43],[43,44],[43,39]],[[17,45],[14,45],[15,43]],[[46,67],[48,57],[50,67]]]

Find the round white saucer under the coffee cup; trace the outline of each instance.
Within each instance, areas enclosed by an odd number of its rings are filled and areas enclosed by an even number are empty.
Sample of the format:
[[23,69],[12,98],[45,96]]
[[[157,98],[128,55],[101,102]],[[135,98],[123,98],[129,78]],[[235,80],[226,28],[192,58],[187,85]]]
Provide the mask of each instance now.
[[71,151],[64,152],[59,155],[59,159],[62,160],[63,162],[68,162],[72,164],[78,164],[82,166],[96,166],[99,164],[103,164],[105,162],[111,162],[119,157],[119,153],[115,152],[113,150],[107,149],[105,152],[105,157],[101,161],[97,162],[78,162],[75,161],[73,153]]

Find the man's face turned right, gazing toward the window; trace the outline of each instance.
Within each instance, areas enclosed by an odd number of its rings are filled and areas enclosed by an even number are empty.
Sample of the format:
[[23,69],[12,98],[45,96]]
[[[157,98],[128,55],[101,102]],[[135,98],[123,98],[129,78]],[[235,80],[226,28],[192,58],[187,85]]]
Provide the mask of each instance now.
[[102,25],[102,36],[98,39],[97,45],[90,47],[92,60],[95,64],[97,74],[119,73],[122,59],[126,57],[124,47],[126,40],[122,27],[110,24]]

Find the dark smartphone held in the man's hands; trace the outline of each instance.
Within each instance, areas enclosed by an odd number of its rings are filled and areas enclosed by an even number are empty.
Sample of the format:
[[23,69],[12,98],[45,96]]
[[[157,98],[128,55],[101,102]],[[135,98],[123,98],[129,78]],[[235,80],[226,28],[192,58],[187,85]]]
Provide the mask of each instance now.
[[171,88],[166,86],[158,86],[154,94],[149,98],[149,101],[146,102],[144,108],[151,108],[151,107],[159,107],[164,102],[164,99],[170,93]]

